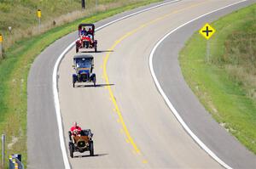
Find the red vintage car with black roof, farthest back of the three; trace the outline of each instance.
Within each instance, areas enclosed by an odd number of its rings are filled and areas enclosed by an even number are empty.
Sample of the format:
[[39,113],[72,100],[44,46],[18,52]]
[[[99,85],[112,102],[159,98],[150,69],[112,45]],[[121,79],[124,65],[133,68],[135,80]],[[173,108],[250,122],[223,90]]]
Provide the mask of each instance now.
[[79,25],[79,40],[76,42],[76,53],[81,48],[94,48],[97,52],[97,40],[95,36],[95,25],[93,24],[80,24]]

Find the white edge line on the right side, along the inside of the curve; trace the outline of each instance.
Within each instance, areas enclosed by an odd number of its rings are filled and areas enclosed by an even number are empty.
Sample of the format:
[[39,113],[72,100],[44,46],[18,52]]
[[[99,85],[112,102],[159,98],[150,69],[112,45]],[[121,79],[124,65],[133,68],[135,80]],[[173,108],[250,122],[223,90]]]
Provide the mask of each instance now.
[[183,126],[183,128],[185,129],[185,131],[189,133],[189,135],[191,136],[191,138],[193,138],[193,139],[195,140],[195,142],[201,146],[201,149],[204,149],[204,150],[207,152],[208,155],[210,155],[210,156],[211,156],[215,161],[217,161],[221,166],[224,166],[224,167],[227,168],[227,169],[232,169],[232,167],[229,166],[229,165],[227,165],[227,164],[226,164],[224,161],[222,161],[221,159],[219,159],[218,156],[215,155],[215,154],[212,152],[212,150],[207,147],[206,144],[204,144],[203,142],[201,142],[201,139],[200,139],[200,138],[197,138],[197,136],[195,135],[195,133],[190,130],[190,128],[187,126],[187,124],[183,121],[182,117],[177,113],[177,110],[174,108],[174,106],[172,105],[171,101],[167,98],[166,93],[164,93],[163,89],[160,87],[160,83],[158,82],[158,80],[157,80],[157,78],[156,78],[156,76],[155,76],[155,74],[154,74],[154,68],[153,68],[153,61],[152,61],[152,60],[153,60],[153,56],[154,56],[154,52],[155,52],[156,48],[158,48],[158,46],[160,45],[160,43],[163,42],[163,41],[166,39],[166,37],[169,37],[173,32],[177,31],[178,29],[182,28],[182,27],[185,26],[185,25],[189,25],[190,23],[192,23],[192,22],[195,21],[195,20],[199,20],[199,19],[201,19],[202,17],[207,16],[208,14],[215,13],[215,12],[217,12],[218,10],[222,10],[222,9],[224,9],[224,8],[229,8],[230,6],[236,5],[236,4],[238,4],[238,3],[243,3],[243,2],[246,2],[246,1],[247,1],[247,0],[242,0],[242,1],[239,1],[239,2],[237,2],[237,3],[232,3],[232,4],[227,5],[227,6],[224,6],[224,7],[222,7],[222,8],[218,8],[218,9],[212,10],[211,12],[209,12],[209,13],[207,13],[207,14],[202,14],[201,16],[199,16],[199,17],[197,17],[197,18],[195,18],[195,19],[193,19],[193,20],[189,20],[189,22],[186,22],[185,24],[178,26],[176,29],[174,29],[174,30],[170,31],[169,33],[167,33],[165,37],[162,37],[162,38],[160,39],[160,41],[156,43],[156,45],[154,46],[154,48],[152,49],[152,51],[151,51],[151,53],[150,53],[150,55],[149,55],[149,69],[150,69],[150,71],[151,71],[151,75],[153,76],[154,83],[155,83],[156,87],[158,88],[158,90],[159,90],[160,94],[162,95],[162,97],[165,99],[166,104],[167,104],[168,107],[172,110],[172,113],[176,116],[177,121],[179,121],[179,123]]

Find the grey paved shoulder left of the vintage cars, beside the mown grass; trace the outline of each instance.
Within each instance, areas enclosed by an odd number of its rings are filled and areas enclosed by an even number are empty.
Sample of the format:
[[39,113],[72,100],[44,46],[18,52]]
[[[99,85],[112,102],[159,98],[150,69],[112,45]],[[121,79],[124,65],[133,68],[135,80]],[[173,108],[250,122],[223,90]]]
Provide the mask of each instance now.
[[[96,27],[155,5],[158,3],[114,15],[97,22]],[[77,35],[73,32],[55,41],[32,64],[27,82],[27,168],[64,168],[52,76],[56,60]]]

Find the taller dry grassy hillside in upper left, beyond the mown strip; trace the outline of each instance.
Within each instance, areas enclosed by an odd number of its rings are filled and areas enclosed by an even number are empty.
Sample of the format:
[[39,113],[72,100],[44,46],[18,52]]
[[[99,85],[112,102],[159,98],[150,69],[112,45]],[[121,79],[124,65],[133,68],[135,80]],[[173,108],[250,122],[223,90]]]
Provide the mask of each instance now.
[[[38,35],[56,26],[95,14],[96,11],[138,2],[143,3],[145,0],[86,0],[84,10],[81,8],[81,0],[1,0],[0,33],[3,34],[6,49],[23,38]],[[38,9],[42,11],[40,29],[38,28]],[[9,26],[12,27],[11,31]]]

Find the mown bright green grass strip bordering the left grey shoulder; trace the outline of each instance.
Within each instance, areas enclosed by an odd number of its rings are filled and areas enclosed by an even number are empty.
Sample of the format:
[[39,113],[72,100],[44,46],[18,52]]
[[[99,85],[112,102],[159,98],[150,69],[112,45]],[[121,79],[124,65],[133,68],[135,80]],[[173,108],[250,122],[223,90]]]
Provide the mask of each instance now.
[[[125,10],[154,2],[158,0],[133,1],[122,8],[99,12],[86,19],[56,27],[37,37],[15,42],[6,50],[5,59],[0,62],[0,131],[7,134],[7,144],[11,143],[12,137],[18,138],[18,142],[13,144],[11,149],[6,148],[6,155],[21,154],[26,166],[26,83],[28,72],[36,56],[55,40],[76,31],[77,25],[81,22],[94,23]],[[1,163],[0,165],[2,166]]]

